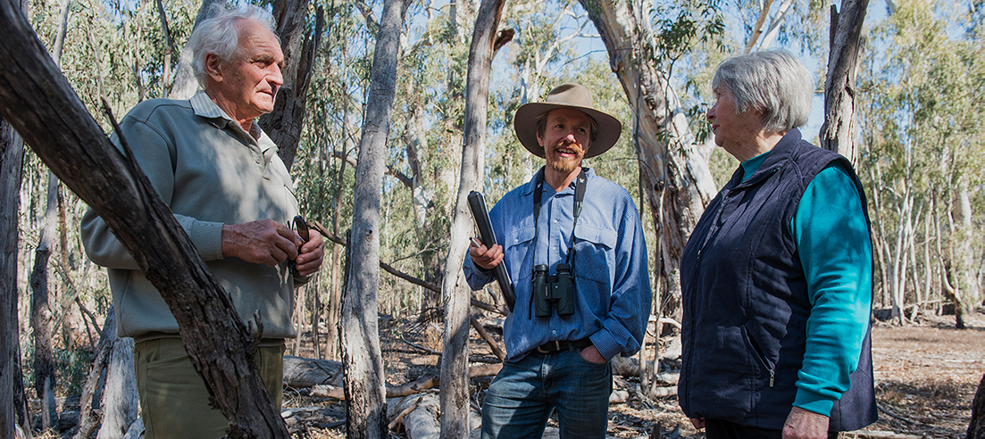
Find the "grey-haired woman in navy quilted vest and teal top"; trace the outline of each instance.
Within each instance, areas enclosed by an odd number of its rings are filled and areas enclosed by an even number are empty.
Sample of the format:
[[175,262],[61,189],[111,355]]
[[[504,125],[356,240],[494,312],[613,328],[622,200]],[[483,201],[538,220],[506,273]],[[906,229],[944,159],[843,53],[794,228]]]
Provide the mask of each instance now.
[[681,260],[681,408],[708,439],[836,437],[876,420],[872,242],[851,163],[803,140],[792,54],[722,62],[708,109],[741,161]]

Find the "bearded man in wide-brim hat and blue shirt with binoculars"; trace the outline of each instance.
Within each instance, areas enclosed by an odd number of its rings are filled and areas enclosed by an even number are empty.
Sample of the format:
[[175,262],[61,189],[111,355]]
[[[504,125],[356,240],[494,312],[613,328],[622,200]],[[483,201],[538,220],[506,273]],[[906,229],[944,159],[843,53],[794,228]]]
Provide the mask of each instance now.
[[[496,242],[471,246],[473,289],[505,264],[516,303],[503,325],[506,363],[483,404],[483,438],[538,438],[553,409],[562,438],[604,438],[612,357],[632,355],[650,314],[646,243],[623,187],[582,166],[622,124],[588,89],[564,84],[513,119],[545,166],[490,211]],[[546,183],[546,184],[545,184]]]

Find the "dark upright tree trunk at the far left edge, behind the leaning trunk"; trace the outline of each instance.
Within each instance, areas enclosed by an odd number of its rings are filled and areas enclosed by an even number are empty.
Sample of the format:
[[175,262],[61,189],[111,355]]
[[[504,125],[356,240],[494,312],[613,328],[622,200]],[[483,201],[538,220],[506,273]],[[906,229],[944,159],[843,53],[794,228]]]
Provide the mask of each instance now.
[[[14,437],[15,372],[21,367],[17,327],[17,219],[24,143],[0,120],[0,437]],[[20,386],[23,388],[23,385]],[[24,400],[22,397],[21,401]]]

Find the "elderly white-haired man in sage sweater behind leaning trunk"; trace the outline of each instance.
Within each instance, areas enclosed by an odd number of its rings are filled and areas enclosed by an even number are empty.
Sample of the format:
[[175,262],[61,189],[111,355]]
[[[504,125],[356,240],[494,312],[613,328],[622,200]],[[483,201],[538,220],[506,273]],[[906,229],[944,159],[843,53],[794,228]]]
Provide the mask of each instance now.
[[[280,408],[285,339],[294,288],[323,260],[317,233],[290,226],[298,214],[294,184],[277,146],[256,118],[274,108],[284,54],[270,15],[255,7],[219,8],[188,46],[202,91],[188,100],[151,99],[133,107],[119,133],[199,256],[230,293],[243,321],[259,312],[255,359]],[[137,388],[148,438],[215,438],[228,421],[178,336],[160,292],[90,210],[82,237],[93,262],[108,269],[120,337],[132,337]]]

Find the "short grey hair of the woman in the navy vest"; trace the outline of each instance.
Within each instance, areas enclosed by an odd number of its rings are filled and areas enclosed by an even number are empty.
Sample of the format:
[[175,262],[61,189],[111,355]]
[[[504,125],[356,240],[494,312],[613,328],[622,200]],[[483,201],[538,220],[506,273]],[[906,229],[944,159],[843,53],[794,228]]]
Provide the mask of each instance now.
[[807,123],[814,79],[804,63],[786,50],[762,50],[722,61],[711,81],[732,94],[736,112],[759,110],[762,128],[786,133]]

